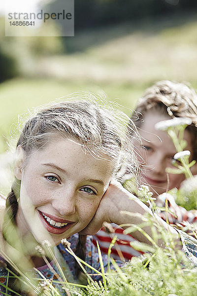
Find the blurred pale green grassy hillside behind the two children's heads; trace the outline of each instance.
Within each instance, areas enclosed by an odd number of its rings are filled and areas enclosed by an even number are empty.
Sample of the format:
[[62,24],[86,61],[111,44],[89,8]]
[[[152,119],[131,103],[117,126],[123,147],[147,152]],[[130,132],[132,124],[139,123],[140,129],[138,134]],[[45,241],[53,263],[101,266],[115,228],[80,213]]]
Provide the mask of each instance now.
[[0,43],[7,54],[14,46],[20,66],[17,78],[0,84],[0,151],[7,148],[18,114],[78,90],[104,92],[129,114],[156,80],[189,81],[197,87],[195,13],[89,29],[66,40],[78,50],[64,53],[59,37],[7,37]]

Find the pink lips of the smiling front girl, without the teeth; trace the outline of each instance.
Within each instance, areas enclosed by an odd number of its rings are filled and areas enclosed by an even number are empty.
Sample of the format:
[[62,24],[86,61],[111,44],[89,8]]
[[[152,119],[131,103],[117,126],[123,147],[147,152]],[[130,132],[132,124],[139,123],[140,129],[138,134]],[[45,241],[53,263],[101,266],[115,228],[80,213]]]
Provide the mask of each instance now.
[[[68,221],[68,220],[64,220],[64,219],[57,219],[56,217],[52,216],[52,215],[49,215],[49,214],[45,214],[45,213],[42,213],[38,210],[38,214],[39,214],[39,217],[44,225],[44,227],[46,228],[46,230],[50,233],[53,233],[53,234],[62,234],[64,233],[68,228],[70,228],[75,222],[71,222],[71,221]],[[61,228],[57,228],[51,224],[49,224],[46,219],[44,219],[43,215],[44,214],[45,216],[51,218],[52,220],[56,221],[56,222],[62,222],[62,223],[67,223],[65,226],[61,227]]]

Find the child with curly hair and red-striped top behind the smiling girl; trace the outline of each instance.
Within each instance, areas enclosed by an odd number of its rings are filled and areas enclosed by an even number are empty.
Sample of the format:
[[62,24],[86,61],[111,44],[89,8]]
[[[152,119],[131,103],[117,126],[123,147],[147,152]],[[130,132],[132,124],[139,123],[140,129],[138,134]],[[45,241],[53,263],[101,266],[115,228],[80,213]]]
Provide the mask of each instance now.
[[[148,185],[153,192],[153,197],[157,199],[159,206],[165,206],[166,195],[160,195],[174,187],[177,189],[185,180],[185,175],[166,174],[167,167],[174,167],[172,159],[177,152],[172,140],[165,131],[155,129],[155,124],[162,120],[173,117],[186,117],[192,120],[192,124],[186,128],[184,139],[187,141],[186,150],[191,151],[191,160],[197,161],[197,94],[193,88],[169,80],[158,81],[149,87],[141,99],[139,99],[135,111],[132,112],[131,119],[137,127],[141,138],[141,145],[135,141],[135,151],[139,162],[143,164],[141,174],[141,184]],[[197,174],[197,164],[191,168],[192,173]],[[158,195],[159,198],[158,198]],[[186,209],[176,205],[173,198],[170,198],[168,206],[171,212],[176,215],[168,214],[168,220],[172,224],[188,221],[196,222],[197,211],[186,211]],[[160,216],[165,220],[166,213],[161,212]],[[117,228],[116,234],[119,239],[118,246],[125,259],[132,256],[139,256],[140,252],[130,247],[133,241],[131,235],[124,235],[123,229]],[[96,234],[94,243],[99,240],[99,245],[103,253],[107,253],[111,237],[101,230]],[[115,248],[112,250],[114,258],[119,258]]]

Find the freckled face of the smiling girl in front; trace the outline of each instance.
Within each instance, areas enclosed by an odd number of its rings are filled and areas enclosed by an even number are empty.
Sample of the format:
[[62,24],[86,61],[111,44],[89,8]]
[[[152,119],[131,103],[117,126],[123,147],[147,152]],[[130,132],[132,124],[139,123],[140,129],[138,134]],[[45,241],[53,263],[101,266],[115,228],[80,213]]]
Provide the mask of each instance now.
[[58,245],[85,228],[111,175],[111,161],[94,158],[69,139],[32,152],[16,173],[21,180],[17,224],[22,235],[32,232],[37,242],[48,239]]

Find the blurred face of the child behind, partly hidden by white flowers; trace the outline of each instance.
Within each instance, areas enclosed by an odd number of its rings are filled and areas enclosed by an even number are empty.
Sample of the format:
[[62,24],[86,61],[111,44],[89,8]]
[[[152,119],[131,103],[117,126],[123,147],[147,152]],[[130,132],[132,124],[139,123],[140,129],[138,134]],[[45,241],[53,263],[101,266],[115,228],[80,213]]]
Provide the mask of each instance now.
[[[139,129],[142,141],[139,154],[144,160],[141,181],[150,186],[154,197],[174,187],[179,188],[181,182],[185,180],[184,174],[166,174],[165,172],[167,167],[175,168],[172,165],[172,158],[177,152],[168,134],[155,129],[157,122],[166,119],[169,119],[169,116],[158,111],[148,111]],[[187,130],[184,139],[188,143],[185,150],[190,150],[192,154],[192,139]],[[140,159],[139,161],[141,162]]]

